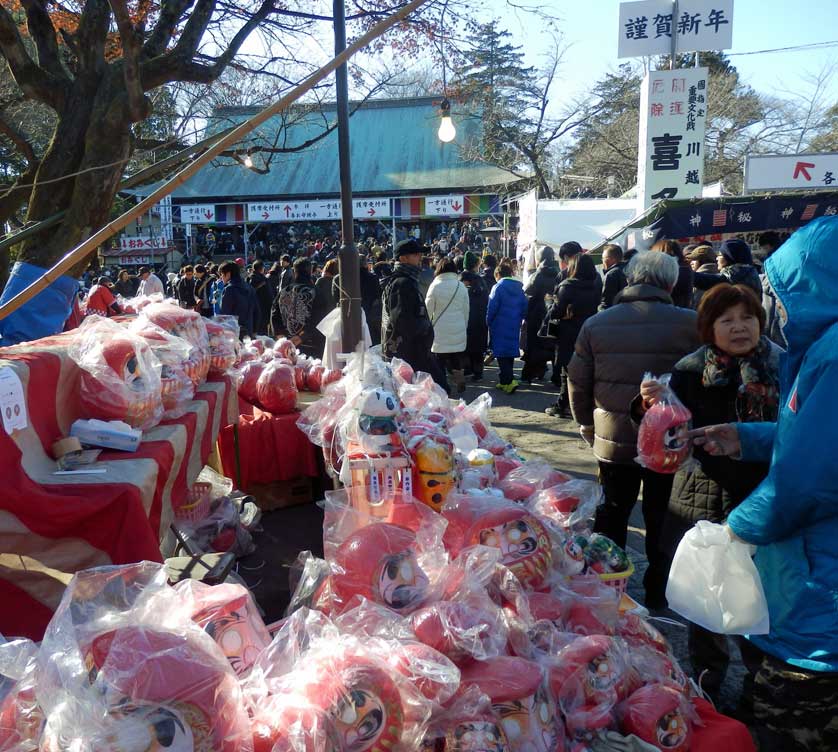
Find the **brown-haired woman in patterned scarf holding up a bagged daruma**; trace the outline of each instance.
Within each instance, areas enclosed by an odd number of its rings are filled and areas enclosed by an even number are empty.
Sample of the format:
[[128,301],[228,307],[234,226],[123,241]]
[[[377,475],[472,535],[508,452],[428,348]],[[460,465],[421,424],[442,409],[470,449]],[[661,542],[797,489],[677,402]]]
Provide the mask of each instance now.
[[[717,285],[698,308],[698,331],[705,344],[682,358],[672,387],[690,410],[693,427],[777,419],[781,350],[767,337],[761,301],[744,285]],[[658,399],[657,382],[643,382],[632,404],[636,420]],[[721,523],[765,478],[768,465],[711,456],[702,447],[695,463],[680,470],[672,487],[661,535],[672,557],[681,538],[699,520]],[[690,661],[696,678],[718,696],[729,662],[727,638],[689,625]]]

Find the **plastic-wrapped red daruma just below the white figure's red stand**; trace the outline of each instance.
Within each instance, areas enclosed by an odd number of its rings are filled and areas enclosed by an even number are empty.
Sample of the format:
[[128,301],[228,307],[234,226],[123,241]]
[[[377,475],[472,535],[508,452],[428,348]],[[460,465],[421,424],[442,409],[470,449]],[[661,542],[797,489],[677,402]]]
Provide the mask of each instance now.
[[346,605],[356,595],[400,613],[410,613],[428,596],[428,576],[416,558],[416,535],[386,522],[362,527],[335,555],[331,578],[335,597]]

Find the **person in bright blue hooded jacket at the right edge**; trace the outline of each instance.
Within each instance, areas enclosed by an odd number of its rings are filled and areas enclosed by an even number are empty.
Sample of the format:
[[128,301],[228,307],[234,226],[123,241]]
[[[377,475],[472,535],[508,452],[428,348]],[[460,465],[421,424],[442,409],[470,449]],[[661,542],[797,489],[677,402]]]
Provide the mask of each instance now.
[[771,461],[727,520],[758,547],[771,621],[743,650],[760,749],[838,750],[838,217],[798,230],[765,274],[788,345],[780,415],[699,429],[696,442]]

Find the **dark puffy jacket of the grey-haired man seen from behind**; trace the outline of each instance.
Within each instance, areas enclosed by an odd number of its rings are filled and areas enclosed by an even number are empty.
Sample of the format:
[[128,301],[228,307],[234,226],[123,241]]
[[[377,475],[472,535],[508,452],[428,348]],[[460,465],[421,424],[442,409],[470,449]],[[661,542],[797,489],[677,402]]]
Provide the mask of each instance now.
[[669,373],[698,344],[695,311],[672,305],[652,285],[627,287],[613,307],[584,323],[567,369],[570,407],[579,425],[594,427],[597,459],[634,465],[630,406],[643,375]]

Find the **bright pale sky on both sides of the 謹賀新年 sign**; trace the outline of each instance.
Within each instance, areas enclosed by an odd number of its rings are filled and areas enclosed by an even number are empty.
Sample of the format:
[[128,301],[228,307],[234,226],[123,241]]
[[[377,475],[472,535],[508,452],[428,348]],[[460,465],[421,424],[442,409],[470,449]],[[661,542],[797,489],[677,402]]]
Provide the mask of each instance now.
[[[559,29],[567,50],[562,67],[561,90],[582,94],[592,81],[614,69],[617,59],[618,0],[523,0],[550,7],[562,21]],[[531,16],[510,9],[507,0],[489,0],[486,16],[501,19],[524,47],[530,64],[538,64],[547,46],[543,33],[534,33]],[[736,0],[733,49],[730,53],[789,47],[838,40],[838,0]],[[804,74],[817,74],[825,65],[838,67],[838,45],[820,49],[733,55],[731,61],[744,80],[764,93],[801,90]],[[831,96],[838,101],[838,73],[831,82]]]

